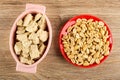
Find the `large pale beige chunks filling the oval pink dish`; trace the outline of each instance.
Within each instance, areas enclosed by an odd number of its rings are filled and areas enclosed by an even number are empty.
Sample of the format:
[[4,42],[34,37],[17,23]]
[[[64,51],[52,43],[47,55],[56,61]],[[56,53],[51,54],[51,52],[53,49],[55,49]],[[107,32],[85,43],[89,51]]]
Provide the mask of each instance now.
[[23,64],[35,63],[44,53],[48,30],[45,16],[41,13],[27,14],[17,23],[14,50]]

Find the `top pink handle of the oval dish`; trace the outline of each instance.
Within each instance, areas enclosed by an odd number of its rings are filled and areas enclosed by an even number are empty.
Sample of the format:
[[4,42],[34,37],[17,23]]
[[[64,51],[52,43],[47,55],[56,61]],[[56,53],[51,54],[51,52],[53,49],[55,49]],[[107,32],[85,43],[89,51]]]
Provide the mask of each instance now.
[[46,7],[45,6],[43,6],[43,5],[36,5],[36,4],[26,4],[25,10],[28,10],[28,9],[37,9],[37,10],[39,10],[43,14],[45,14],[45,11],[46,11]]

